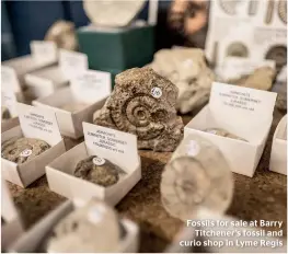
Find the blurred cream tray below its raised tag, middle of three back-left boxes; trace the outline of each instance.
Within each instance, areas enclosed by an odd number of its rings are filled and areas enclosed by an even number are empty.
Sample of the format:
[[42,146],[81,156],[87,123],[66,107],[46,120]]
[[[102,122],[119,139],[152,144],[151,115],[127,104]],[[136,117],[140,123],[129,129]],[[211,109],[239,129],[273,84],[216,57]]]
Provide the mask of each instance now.
[[51,66],[27,73],[24,80],[25,93],[33,100],[48,96],[56,90],[69,84],[69,79],[62,73],[59,66]]

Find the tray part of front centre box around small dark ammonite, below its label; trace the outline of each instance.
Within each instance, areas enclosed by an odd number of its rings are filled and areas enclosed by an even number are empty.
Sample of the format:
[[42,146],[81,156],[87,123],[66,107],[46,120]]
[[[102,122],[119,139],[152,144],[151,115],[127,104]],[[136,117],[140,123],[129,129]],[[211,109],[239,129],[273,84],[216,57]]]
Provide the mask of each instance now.
[[[96,154],[96,151],[95,151]],[[123,169],[126,174],[119,175],[119,181],[108,187],[93,184],[87,180],[73,175],[79,161],[94,154],[88,153],[85,142],[81,142],[46,166],[46,176],[49,188],[68,198],[81,198],[89,200],[95,196],[115,206],[141,178],[141,164],[131,164],[129,169]],[[117,153],[115,153],[117,157]],[[106,158],[113,163],[113,158]],[[117,160],[117,159],[115,159]]]

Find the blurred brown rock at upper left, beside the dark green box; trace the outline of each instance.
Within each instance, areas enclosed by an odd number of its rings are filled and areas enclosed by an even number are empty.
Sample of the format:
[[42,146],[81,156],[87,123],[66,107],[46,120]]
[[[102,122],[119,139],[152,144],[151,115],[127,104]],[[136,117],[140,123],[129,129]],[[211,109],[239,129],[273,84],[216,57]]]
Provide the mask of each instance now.
[[58,48],[77,50],[74,24],[69,21],[56,21],[45,35],[45,41],[55,42]]

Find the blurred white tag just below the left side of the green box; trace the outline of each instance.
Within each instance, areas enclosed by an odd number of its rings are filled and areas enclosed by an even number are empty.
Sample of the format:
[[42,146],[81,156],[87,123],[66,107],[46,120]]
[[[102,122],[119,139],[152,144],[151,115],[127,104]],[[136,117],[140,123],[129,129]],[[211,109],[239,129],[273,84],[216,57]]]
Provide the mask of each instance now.
[[82,53],[60,49],[59,66],[66,78],[71,80],[77,74],[88,70],[88,57]]

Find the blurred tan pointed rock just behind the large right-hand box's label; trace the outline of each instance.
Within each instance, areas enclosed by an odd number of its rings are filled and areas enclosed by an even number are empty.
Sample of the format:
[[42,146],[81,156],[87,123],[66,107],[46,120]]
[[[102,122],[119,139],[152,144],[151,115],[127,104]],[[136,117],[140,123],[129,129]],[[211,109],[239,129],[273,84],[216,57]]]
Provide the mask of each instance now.
[[228,83],[251,89],[270,90],[275,74],[276,71],[273,68],[265,66],[257,68],[249,76],[243,76],[235,80],[229,80]]

